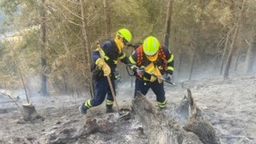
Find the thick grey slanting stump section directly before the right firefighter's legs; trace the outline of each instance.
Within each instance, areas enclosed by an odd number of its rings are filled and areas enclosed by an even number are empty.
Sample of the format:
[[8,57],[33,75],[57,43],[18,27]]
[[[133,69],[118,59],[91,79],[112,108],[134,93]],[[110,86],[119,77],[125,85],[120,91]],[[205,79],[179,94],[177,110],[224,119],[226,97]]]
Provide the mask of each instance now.
[[143,123],[149,144],[202,144],[194,133],[186,132],[175,119],[161,113],[140,92],[132,101],[132,108]]

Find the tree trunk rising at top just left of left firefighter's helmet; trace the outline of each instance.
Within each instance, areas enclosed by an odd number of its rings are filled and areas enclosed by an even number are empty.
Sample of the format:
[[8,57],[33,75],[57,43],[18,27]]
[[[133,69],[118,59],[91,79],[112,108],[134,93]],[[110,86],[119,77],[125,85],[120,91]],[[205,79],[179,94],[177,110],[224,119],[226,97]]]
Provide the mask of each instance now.
[[110,16],[110,7],[109,7],[109,0],[104,0],[104,13],[105,13],[105,24],[106,24],[106,35],[107,39],[111,39],[111,16]]

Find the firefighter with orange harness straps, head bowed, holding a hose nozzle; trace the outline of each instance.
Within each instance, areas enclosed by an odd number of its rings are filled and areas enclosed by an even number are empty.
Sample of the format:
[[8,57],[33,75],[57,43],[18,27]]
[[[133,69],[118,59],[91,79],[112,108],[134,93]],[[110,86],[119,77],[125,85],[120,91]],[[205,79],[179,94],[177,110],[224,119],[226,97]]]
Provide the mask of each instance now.
[[[146,95],[149,88],[156,95],[160,109],[167,106],[163,76],[168,81],[173,78],[173,54],[154,36],[147,37],[130,55],[130,68],[135,72],[135,95],[140,91]],[[160,78],[158,78],[160,77]]]

